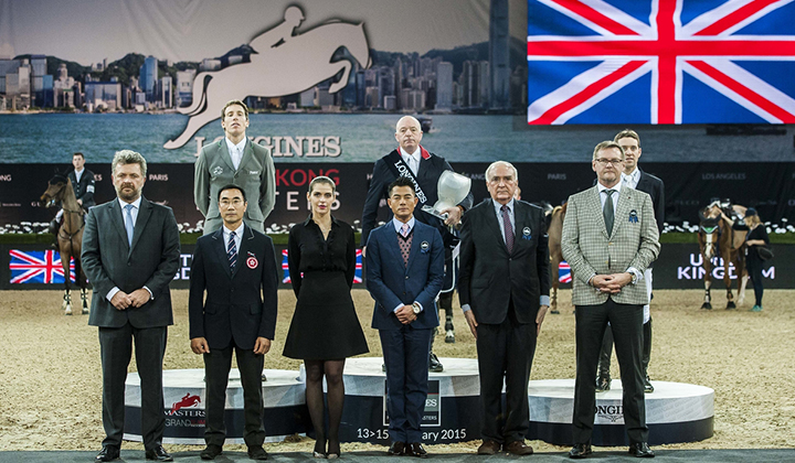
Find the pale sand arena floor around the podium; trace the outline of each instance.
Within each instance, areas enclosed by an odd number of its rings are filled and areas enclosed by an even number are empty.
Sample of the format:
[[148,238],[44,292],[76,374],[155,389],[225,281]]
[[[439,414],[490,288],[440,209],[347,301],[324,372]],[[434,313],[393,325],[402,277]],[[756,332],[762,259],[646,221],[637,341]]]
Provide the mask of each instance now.
[[[190,351],[188,291],[172,291],[174,325],[169,330],[165,368],[202,368]],[[724,298],[713,292],[716,308]],[[702,292],[655,291],[651,379],[692,383],[716,390],[714,437],[671,449],[789,448],[795,442],[795,291],[768,290],[764,311],[699,310]],[[77,299],[77,298],[76,298]],[[372,300],[364,290],[353,299],[370,345],[380,356],[378,333],[370,329]],[[539,338],[531,379],[574,377],[574,316],[569,291],[562,314],[548,314]],[[266,368],[297,369],[298,360],[280,355],[293,316],[293,291],[279,292],[276,340]],[[456,303],[457,306],[457,303]],[[99,450],[100,366],[97,330],[87,316],[64,316],[60,291],[0,292],[0,450]],[[441,357],[475,357],[475,341],[456,310],[457,342],[437,336]],[[130,365],[135,370],[135,360]],[[617,377],[613,362],[613,376]],[[269,452],[310,452],[307,438],[268,444]],[[540,452],[568,449],[530,442]],[[474,452],[479,441],[433,445],[431,452]],[[142,449],[128,442],[124,448]],[[195,449],[167,445],[173,451]],[[230,445],[235,450],[236,445]],[[242,446],[240,446],[242,449]],[[381,449],[343,444],[343,452]],[[240,449],[237,449],[240,450]]]

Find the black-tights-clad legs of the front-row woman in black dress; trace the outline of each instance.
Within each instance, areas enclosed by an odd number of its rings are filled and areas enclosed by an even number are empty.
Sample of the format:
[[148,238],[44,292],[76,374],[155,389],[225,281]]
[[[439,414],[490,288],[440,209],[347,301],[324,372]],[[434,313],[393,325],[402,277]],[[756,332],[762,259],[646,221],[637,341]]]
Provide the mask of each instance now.
[[[340,453],[339,423],[342,419],[342,403],[344,402],[344,383],[342,370],[344,358],[341,360],[304,360],[307,373],[307,408],[315,428],[315,452],[326,453],[328,439],[328,453]],[[328,433],[324,427],[324,394],[322,379],[326,376],[328,387],[329,427]]]

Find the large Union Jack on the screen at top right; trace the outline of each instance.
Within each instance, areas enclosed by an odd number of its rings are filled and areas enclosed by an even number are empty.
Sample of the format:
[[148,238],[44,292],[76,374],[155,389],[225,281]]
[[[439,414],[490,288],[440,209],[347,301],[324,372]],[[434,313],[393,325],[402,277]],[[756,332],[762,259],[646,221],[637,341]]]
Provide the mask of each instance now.
[[795,123],[793,0],[528,0],[528,123]]

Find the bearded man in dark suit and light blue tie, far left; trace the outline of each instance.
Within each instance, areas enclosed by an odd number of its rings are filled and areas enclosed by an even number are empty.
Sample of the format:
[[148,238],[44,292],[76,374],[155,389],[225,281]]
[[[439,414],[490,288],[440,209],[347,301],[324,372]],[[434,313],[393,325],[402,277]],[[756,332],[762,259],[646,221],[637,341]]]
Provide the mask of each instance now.
[[99,327],[103,367],[106,438],[96,460],[119,457],[125,380],[135,338],[146,457],[172,461],[161,445],[162,359],[167,327],[173,324],[169,282],[179,268],[179,230],[169,207],[141,196],[147,172],[142,155],[117,152],[110,172],[118,197],[88,211],[82,254],[83,269],[94,287],[88,324]]

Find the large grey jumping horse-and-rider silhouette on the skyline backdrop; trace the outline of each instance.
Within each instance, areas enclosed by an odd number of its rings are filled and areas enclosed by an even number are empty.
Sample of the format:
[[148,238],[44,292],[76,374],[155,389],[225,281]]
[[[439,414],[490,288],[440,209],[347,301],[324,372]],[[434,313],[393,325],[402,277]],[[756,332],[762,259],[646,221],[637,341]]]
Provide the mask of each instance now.
[[315,85],[342,75],[331,84],[335,94],[348,84],[352,62],[332,62],[335,53],[344,47],[362,65],[370,67],[370,49],[364,24],[331,20],[298,35],[295,29],[304,21],[298,7],[285,10],[285,20],[263,32],[250,45],[255,54],[251,63],[235,64],[221,71],[199,73],[193,80],[193,103],[178,110],[190,116],[188,126],[176,140],[163,148],[183,147],[202,127],[218,119],[226,101],[245,97],[280,97],[304,91]]

